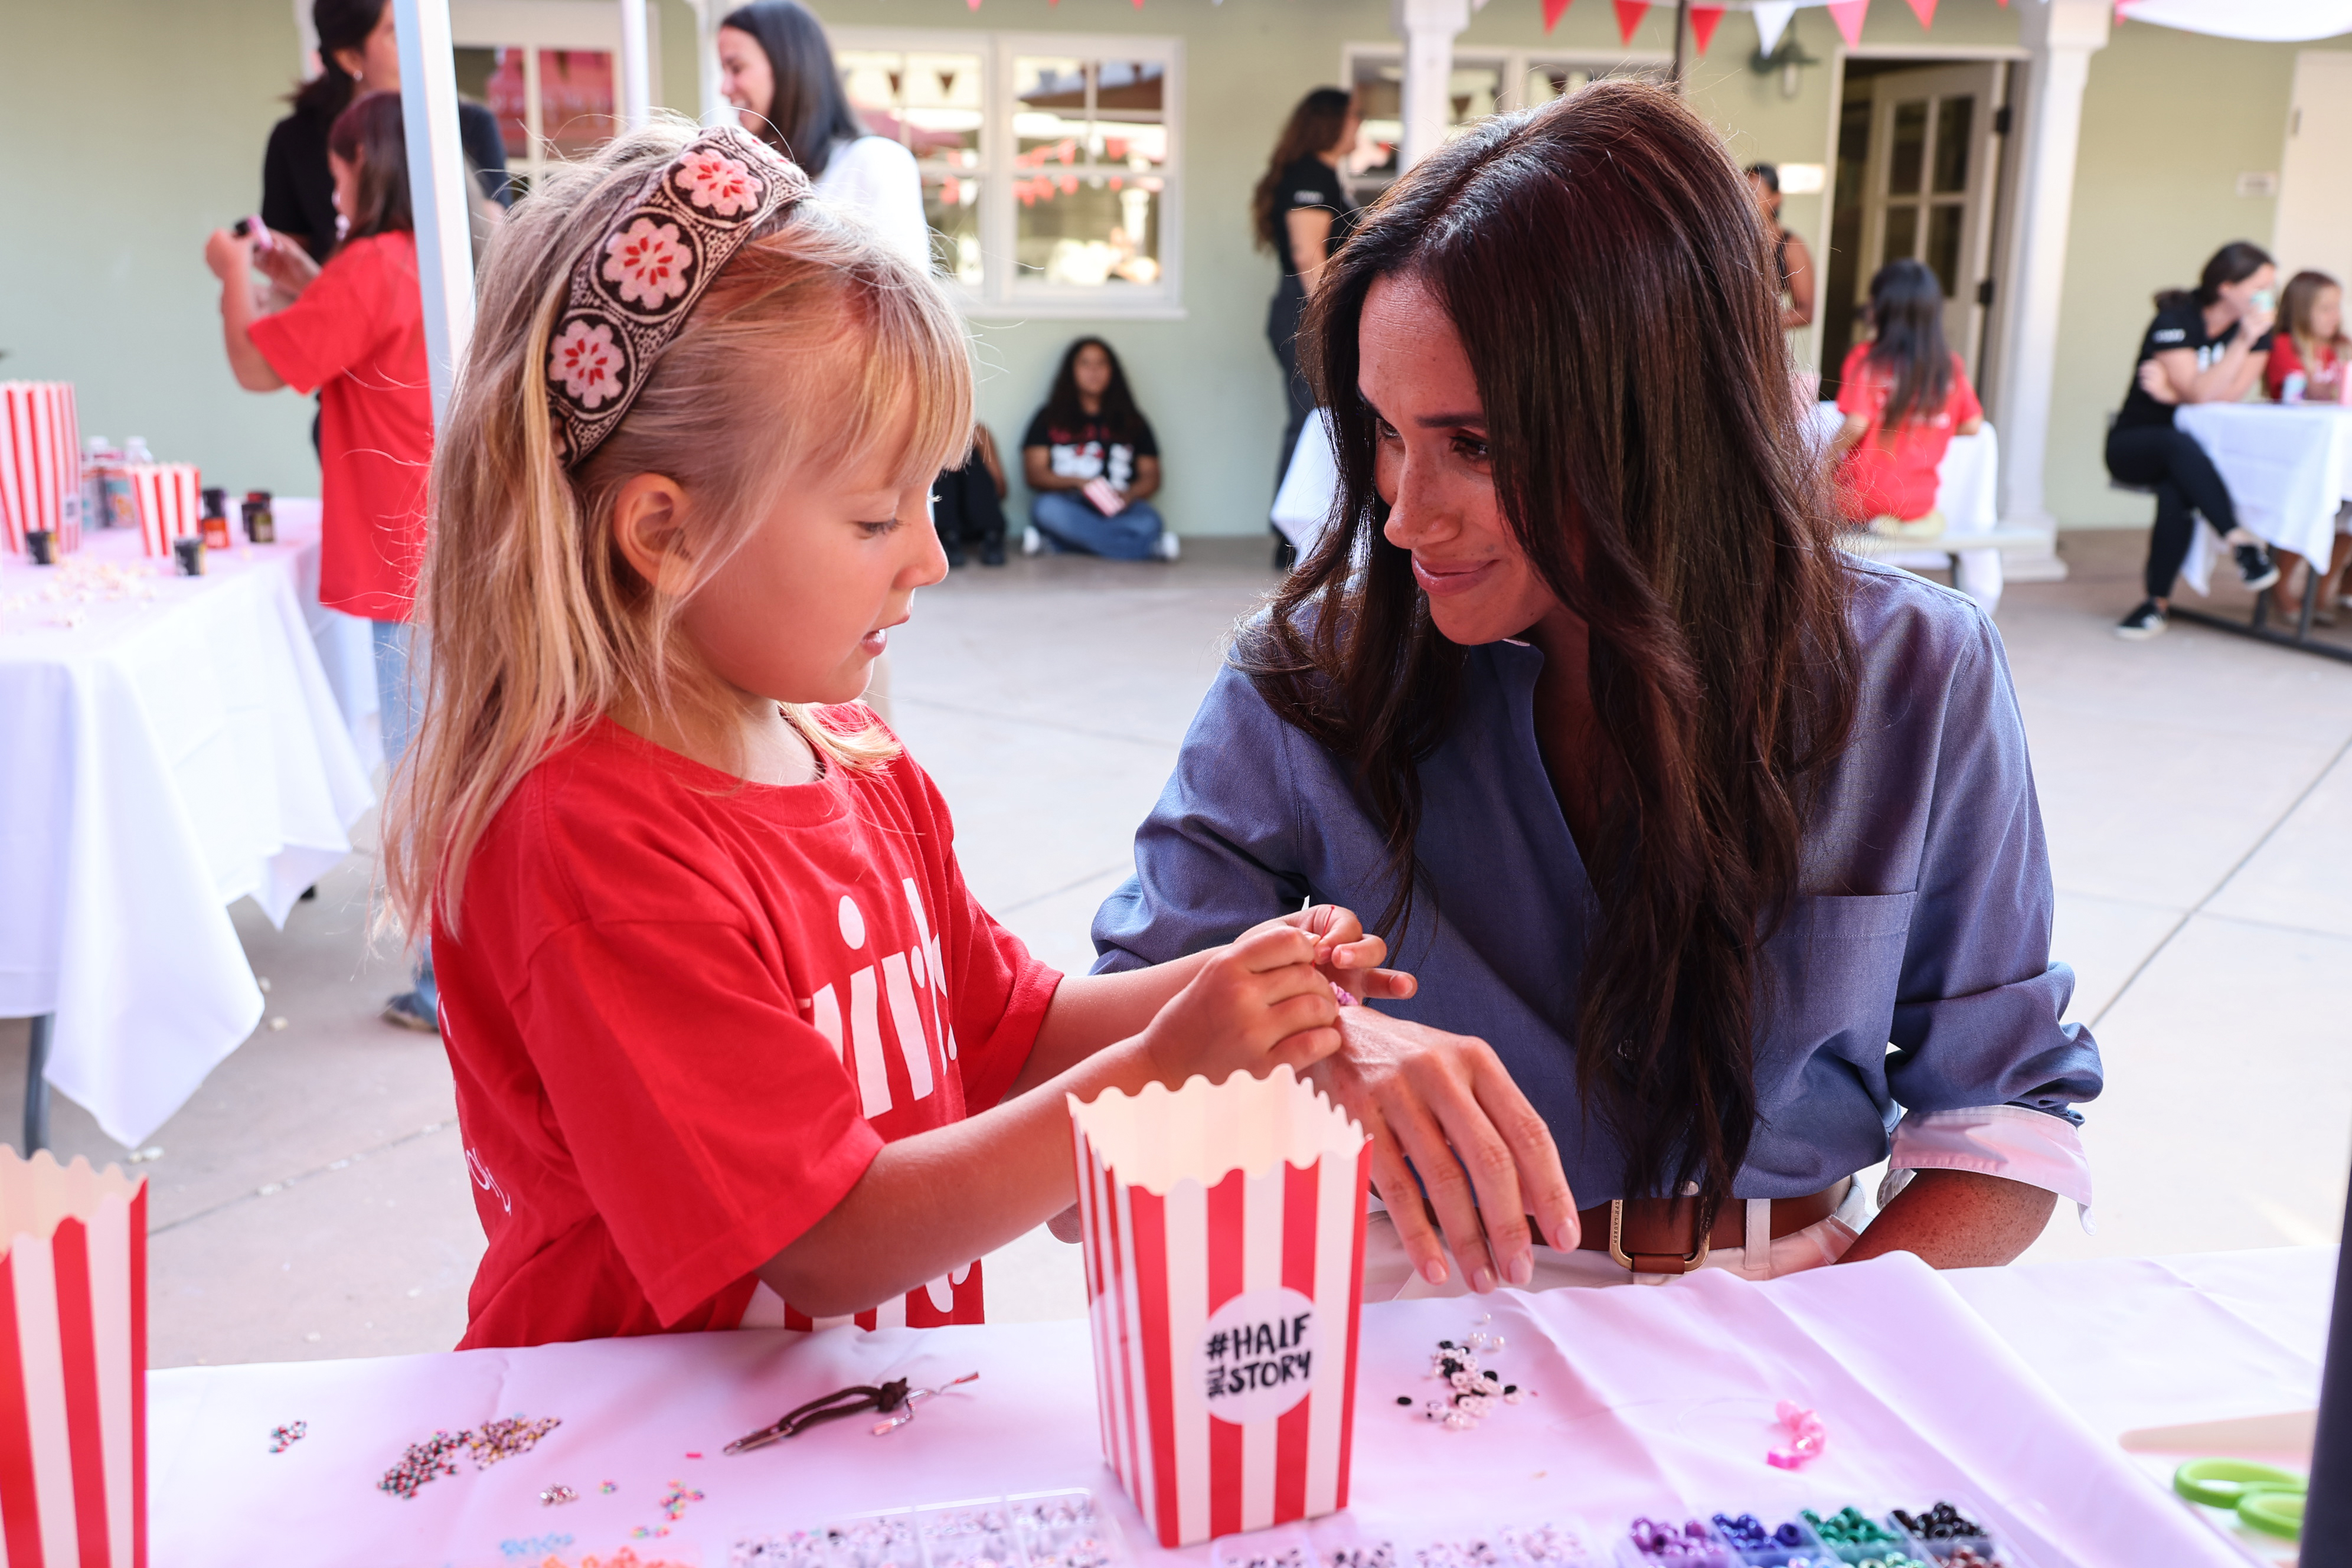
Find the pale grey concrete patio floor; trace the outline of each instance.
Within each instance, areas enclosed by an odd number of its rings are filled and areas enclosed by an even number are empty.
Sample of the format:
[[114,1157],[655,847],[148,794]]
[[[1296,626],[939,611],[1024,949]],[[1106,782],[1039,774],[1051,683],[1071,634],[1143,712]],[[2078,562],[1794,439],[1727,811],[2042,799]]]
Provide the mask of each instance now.
[[[2072,1018],[2107,1093],[2084,1140],[2098,1234],[2034,1255],[2333,1241],[2352,1161],[2352,665],[2201,628],[2107,635],[2140,534],[2070,534],[2065,583],[2009,590],[2009,642],[2058,879]],[[1232,621],[1272,585],[1256,541],[1178,567],[1016,559],[957,571],[894,642],[896,717],[957,813],[978,896],[1047,961],[1087,922],[1176,755]],[[2232,599],[2223,597],[2223,604]],[[355,856],[273,931],[235,910],[273,1018],[155,1138],[153,1361],[445,1349],[480,1255],[440,1044],[376,1020]],[[0,1023],[0,1128],[24,1025]],[[59,1103],[61,1157],[120,1159]],[[1000,1319],[1082,1309],[1075,1248],[990,1258]]]

